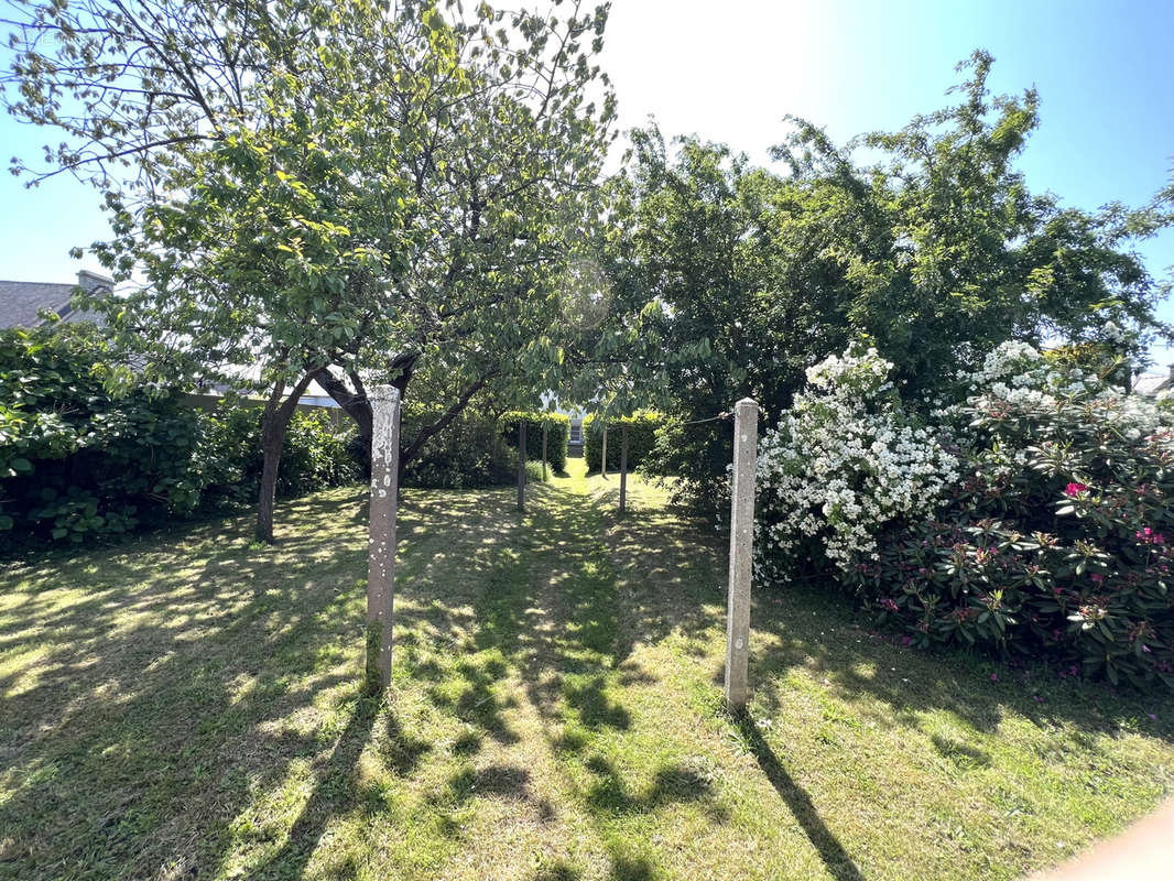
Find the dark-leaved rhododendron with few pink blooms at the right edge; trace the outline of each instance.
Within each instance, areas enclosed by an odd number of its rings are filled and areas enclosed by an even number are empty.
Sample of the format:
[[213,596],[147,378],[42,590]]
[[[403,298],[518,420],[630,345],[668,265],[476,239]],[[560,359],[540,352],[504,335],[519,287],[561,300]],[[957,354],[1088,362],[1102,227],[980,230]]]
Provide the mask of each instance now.
[[917,645],[1174,686],[1174,430],[1167,413],[1139,431],[1136,406],[1104,394],[973,401],[960,411],[972,445],[952,499],[936,519],[883,534],[879,559],[848,584]]

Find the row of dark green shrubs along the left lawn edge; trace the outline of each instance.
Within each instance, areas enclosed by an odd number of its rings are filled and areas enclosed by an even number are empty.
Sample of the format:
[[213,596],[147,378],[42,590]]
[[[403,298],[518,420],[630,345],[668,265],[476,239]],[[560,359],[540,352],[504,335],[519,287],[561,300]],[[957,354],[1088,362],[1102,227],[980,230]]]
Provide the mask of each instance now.
[[[101,337],[83,327],[0,335],[0,529],[6,543],[117,536],[256,492],[256,405],[208,412],[175,390],[101,381]],[[281,491],[356,479],[324,412],[298,413]]]

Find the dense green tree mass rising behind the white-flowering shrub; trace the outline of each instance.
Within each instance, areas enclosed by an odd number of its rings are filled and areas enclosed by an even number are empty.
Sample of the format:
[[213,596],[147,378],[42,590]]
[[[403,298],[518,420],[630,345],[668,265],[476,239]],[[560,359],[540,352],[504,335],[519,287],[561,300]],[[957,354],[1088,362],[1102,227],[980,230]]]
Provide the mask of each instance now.
[[632,363],[660,377],[677,419],[656,468],[720,498],[729,432],[686,423],[745,395],[777,418],[804,369],[853,338],[919,404],[1006,339],[1097,343],[1113,322],[1136,355],[1167,332],[1162,288],[1132,249],[1170,222],[1161,199],[1089,214],[1032,195],[1014,162],[1038,100],[991,97],[991,63],[976,53],[962,101],[897,133],[837,147],[792,120],[775,149],[787,174],[690,139],[670,157],[655,130],[637,134],[609,271],[618,310],[639,316]]

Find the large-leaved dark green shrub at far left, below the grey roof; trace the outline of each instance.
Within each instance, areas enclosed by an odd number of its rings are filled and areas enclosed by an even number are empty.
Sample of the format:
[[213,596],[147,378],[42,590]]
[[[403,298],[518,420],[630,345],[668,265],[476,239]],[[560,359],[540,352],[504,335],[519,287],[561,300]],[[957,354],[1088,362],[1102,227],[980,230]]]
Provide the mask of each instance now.
[[0,334],[0,529],[80,543],[193,511],[198,413],[180,396],[102,385],[86,327]]

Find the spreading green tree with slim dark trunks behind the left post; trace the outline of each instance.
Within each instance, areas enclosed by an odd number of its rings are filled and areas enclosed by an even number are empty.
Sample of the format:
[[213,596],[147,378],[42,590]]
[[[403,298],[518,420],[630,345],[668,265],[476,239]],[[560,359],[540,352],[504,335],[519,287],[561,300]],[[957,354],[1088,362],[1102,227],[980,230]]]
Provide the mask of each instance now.
[[115,238],[95,250],[146,280],[112,327],[162,375],[261,365],[261,538],[312,378],[369,436],[364,382],[443,375],[451,405],[410,457],[487,385],[558,364],[548,280],[592,221],[614,113],[591,63],[606,7],[28,8],[9,109],[70,136],[47,173],[103,188]]

